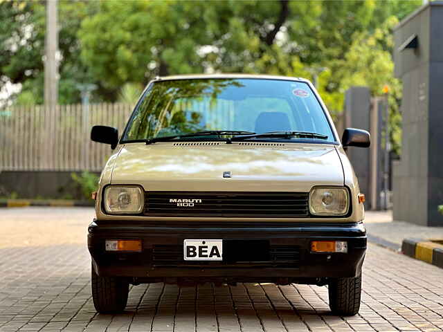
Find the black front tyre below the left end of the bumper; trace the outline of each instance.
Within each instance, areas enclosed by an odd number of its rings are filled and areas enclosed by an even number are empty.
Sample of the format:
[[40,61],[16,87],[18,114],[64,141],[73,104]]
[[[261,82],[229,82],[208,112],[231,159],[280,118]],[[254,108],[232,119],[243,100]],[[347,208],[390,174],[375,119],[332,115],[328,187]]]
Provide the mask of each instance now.
[[99,313],[120,313],[125,310],[129,283],[118,277],[100,277],[91,267],[92,299]]

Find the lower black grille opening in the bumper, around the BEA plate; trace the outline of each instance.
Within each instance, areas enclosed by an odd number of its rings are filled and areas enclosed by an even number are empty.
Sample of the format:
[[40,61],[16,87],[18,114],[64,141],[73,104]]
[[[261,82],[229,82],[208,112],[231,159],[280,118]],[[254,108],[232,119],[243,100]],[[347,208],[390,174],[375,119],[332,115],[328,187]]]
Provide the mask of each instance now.
[[273,266],[296,268],[299,246],[270,246],[266,240],[224,240],[223,261],[185,261],[183,246],[155,245],[152,265],[174,266]]

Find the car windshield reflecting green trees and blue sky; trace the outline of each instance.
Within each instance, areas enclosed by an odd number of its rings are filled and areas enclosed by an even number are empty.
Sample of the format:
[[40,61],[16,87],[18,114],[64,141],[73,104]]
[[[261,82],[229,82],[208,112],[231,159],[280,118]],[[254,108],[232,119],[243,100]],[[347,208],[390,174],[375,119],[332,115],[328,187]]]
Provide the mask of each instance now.
[[[238,78],[154,82],[134,110],[122,142],[200,131],[302,131],[327,138],[293,136],[284,140],[335,141],[325,112],[307,83]],[[211,140],[221,136],[195,138]]]

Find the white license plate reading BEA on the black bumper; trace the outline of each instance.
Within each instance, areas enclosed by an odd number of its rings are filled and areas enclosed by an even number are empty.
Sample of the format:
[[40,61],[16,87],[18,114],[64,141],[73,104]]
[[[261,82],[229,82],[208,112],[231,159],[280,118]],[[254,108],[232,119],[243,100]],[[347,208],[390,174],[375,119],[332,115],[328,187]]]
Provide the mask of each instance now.
[[222,240],[185,240],[183,241],[185,261],[221,261],[223,259]]

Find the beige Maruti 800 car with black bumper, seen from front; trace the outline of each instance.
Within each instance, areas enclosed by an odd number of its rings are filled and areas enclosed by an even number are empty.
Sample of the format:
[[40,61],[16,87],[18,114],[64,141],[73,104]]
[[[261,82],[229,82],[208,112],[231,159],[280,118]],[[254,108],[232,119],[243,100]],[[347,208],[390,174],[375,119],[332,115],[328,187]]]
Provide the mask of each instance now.
[[123,311],[129,284],[273,282],[329,288],[359,311],[364,195],[312,84],[295,77],[158,77],[111,145],[89,225],[97,311]]

